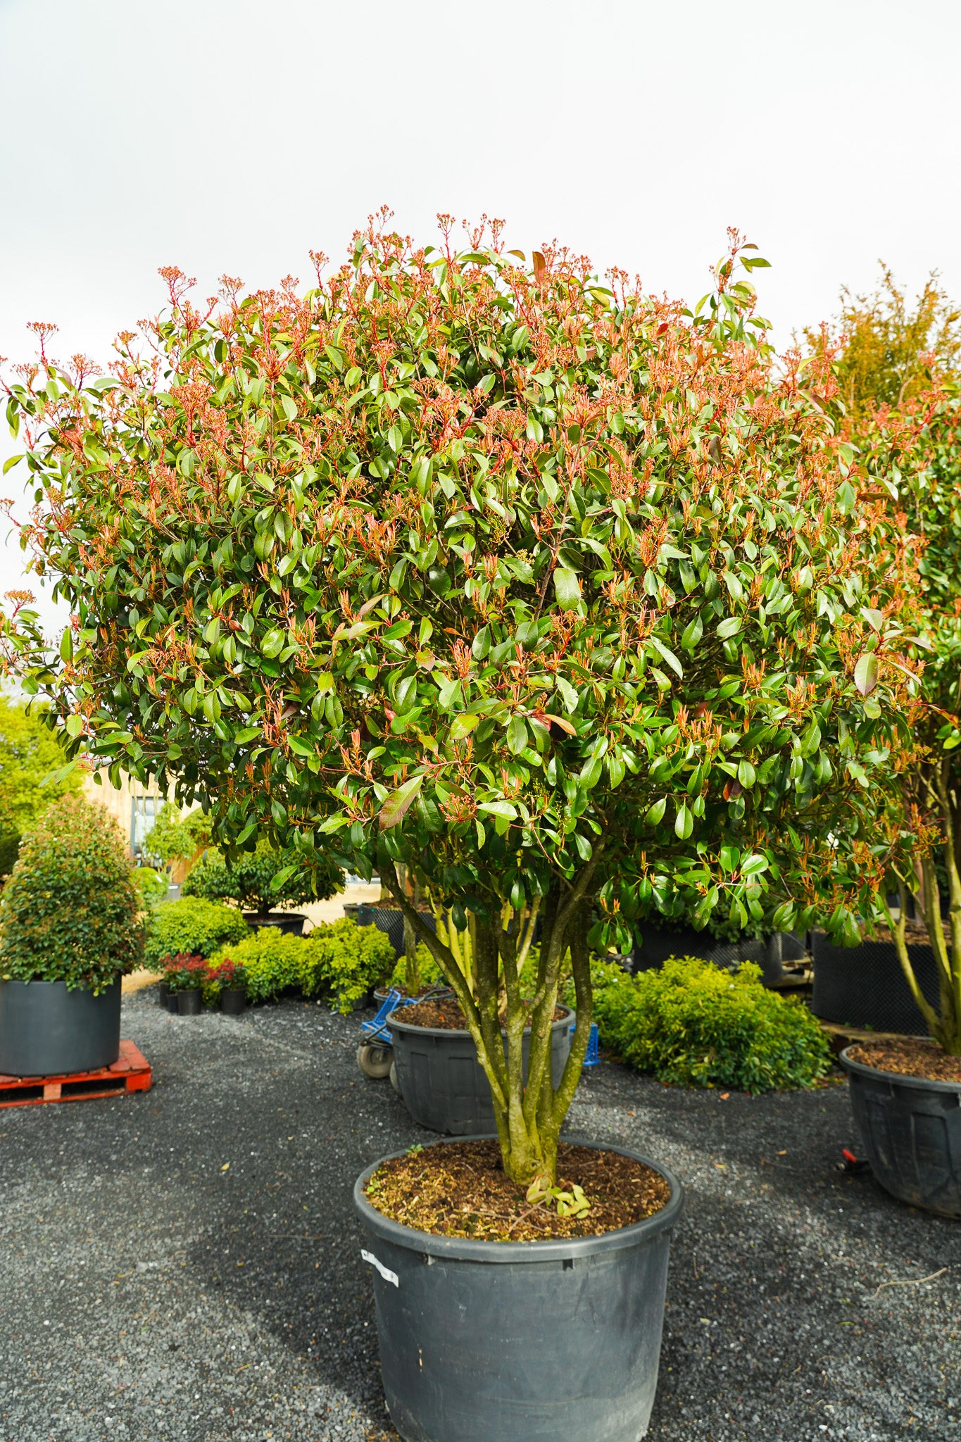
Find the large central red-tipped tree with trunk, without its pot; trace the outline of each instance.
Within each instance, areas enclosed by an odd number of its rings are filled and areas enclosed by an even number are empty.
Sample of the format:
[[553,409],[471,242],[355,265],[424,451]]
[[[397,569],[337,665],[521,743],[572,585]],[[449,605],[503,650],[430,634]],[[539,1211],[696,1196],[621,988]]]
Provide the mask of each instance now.
[[[856,932],[902,845],[879,818],[908,681],[869,688],[863,660],[900,571],[818,392],[830,358],[764,339],[754,247],[732,238],[692,311],[506,251],[499,224],[461,251],[441,229],[416,248],[382,215],[303,294],[225,278],[196,309],[164,271],[169,310],[107,378],[42,332],[7,410],[23,544],[73,619],[59,655],[23,610],[3,634],[78,753],[202,797],[228,854],[379,868],[530,1182],[555,1175],[591,947],[679,898],[699,924]],[[470,978],[398,862],[470,934]]]

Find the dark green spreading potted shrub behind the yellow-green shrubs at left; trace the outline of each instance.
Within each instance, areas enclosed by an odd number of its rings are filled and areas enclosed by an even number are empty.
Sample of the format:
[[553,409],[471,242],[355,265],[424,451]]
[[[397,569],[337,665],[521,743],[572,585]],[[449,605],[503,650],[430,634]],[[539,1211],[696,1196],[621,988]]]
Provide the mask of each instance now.
[[[236,901],[243,908],[243,920],[251,927],[275,926],[291,936],[304,930],[305,916],[292,911],[272,911],[272,906],[303,906],[323,901],[343,887],[343,872],[333,862],[318,857],[310,875],[290,871],[291,857],[261,841],[252,852],[242,852],[231,861],[220,851],[207,851],[196,862],[183,883],[183,897],[203,897],[205,901]],[[288,872],[281,891],[274,887],[278,875]]]

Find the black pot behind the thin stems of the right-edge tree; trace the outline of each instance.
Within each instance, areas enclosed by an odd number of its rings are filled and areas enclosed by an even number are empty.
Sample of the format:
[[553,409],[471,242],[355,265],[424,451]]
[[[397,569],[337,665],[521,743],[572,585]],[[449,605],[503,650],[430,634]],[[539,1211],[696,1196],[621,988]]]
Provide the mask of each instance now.
[[[918,985],[938,1007],[938,970],[929,946],[909,946]],[[814,932],[814,992],[811,1011],[821,1021],[870,1031],[899,1031],[926,1037],[928,1024],[918,1011],[893,942],[837,946],[824,932]]]

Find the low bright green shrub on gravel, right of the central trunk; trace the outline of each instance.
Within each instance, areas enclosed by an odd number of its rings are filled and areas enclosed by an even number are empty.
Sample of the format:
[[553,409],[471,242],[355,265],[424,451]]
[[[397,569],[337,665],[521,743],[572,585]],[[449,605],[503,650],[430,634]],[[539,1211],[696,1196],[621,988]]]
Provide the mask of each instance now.
[[605,963],[594,975],[601,1043],[658,1082],[772,1092],[811,1086],[830,1069],[817,1019],[766,991],[751,962],[726,972],[671,956],[640,976]]

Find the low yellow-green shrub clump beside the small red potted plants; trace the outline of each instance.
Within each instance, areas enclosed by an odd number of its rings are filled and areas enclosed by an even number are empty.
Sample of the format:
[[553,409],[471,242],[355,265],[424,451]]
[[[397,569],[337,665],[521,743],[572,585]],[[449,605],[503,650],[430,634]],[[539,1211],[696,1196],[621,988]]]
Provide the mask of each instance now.
[[316,926],[310,936],[284,936],[262,926],[235,946],[222,946],[210,963],[232,960],[243,968],[249,1001],[269,1001],[285,991],[330,995],[344,1015],[372,986],[390,976],[393,946],[376,926],[349,917]]

